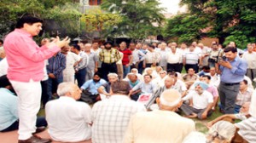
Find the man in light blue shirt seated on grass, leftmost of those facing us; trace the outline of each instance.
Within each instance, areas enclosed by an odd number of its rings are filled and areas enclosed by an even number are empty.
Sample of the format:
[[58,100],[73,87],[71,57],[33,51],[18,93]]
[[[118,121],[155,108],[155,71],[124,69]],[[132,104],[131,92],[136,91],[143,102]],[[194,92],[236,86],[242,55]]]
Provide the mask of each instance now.
[[89,81],[85,82],[80,89],[83,90],[83,93],[81,94],[81,99],[84,102],[88,104],[93,104],[97,100],[100,100],[100,95],[97,91],[102,84],[107,83],[104,79],[101,78],[101,74],[99,72],[96,72],[93,75],[93,78]]

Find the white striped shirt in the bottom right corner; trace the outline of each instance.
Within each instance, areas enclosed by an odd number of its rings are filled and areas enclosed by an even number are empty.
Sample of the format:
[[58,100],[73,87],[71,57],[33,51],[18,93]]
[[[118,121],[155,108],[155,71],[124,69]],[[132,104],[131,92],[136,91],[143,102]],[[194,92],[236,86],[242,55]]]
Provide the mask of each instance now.
[[244,140],[252,143],[255,142],[256,117],[249,117],[235,125],[239,129],[238,134],[240,134]]

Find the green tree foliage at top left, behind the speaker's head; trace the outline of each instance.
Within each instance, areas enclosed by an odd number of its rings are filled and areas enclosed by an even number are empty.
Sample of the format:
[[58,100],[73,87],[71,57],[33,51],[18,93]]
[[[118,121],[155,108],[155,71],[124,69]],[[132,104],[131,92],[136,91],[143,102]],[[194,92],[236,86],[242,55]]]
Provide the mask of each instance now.
[[70,32],[77,29],[74,20],[81,15],[79,7],[73,4],[72,0],[1,1],[0,11],[0,34],[2,37],[14,29],[16,20],[24,15],[33,15],[44,20],[56,20],[60,26],[67,28]]

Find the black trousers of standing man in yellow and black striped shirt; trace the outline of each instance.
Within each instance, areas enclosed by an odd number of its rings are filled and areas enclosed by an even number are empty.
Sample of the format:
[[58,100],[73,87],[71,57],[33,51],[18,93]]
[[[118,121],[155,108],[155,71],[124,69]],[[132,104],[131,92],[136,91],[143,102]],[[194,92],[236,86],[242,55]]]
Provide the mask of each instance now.
[[102,62],[102,78],[108,81],[108,73],[117,73],[116,63],[104,63]]

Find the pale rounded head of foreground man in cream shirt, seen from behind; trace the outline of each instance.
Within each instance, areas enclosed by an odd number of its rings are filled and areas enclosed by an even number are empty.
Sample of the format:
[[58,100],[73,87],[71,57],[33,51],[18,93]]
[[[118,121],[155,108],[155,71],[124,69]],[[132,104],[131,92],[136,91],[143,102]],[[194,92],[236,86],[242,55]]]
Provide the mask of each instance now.
[[165,90],[160,95],[160,105],[177,107],[178,103],[181,101],[181,94],[176,89]]

